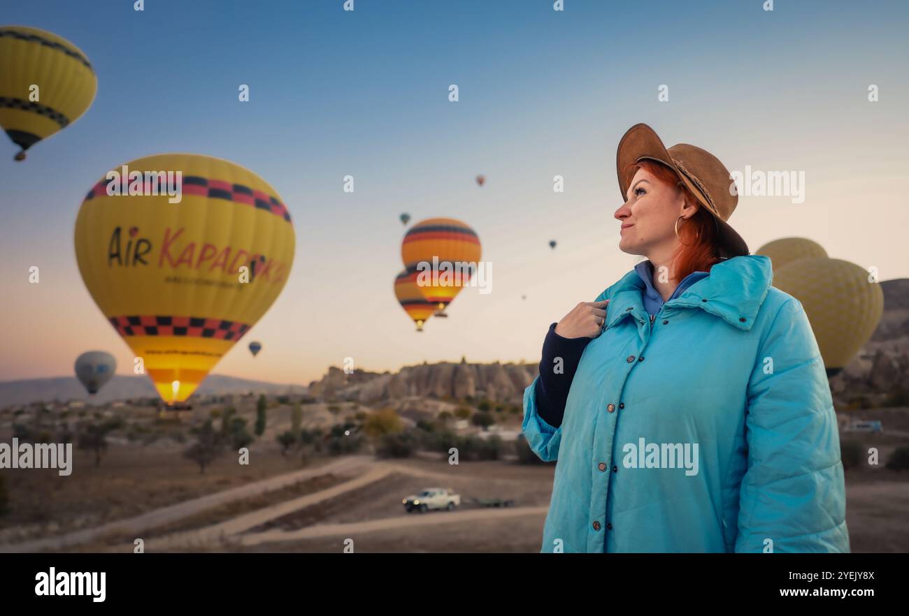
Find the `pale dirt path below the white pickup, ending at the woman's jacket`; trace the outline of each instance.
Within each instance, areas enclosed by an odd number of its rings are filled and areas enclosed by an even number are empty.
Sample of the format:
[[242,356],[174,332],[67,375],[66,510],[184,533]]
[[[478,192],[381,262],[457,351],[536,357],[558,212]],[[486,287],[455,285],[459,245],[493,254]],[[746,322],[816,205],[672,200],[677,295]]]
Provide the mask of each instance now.
[[474,509],[464,512],[432,512],[427,514],[405,514],[384,520],[355,522],[347,524],[316,524],[298,531],[265,531],[241,535],[236,540],[241,545],[275,543],[280,541],[299,541],[327,536],[353,537],[365,532],[390,531],[399,528],[415,528],[436,524],[453,524],[456,522],[475,522],[480,520],[497,520],[523,515],[544,516],[549,511],[544,507],[516,507],[506,509]]

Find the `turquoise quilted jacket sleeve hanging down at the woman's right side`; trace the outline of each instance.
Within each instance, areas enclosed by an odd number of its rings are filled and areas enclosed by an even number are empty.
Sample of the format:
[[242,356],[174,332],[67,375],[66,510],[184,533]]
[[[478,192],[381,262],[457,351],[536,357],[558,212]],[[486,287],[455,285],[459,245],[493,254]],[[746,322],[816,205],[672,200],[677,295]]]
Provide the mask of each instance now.
[[[737,552],[849,551],[830,385],[801,303],[780,307],[748,383]],[[771,540],[770,543],[767,540]]]

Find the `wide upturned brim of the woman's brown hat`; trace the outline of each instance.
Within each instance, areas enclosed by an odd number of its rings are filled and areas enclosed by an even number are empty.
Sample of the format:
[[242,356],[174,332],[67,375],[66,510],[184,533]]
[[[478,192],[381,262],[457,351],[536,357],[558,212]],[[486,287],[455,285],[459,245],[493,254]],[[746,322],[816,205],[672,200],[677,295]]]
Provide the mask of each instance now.
[[684,174],[678,168],[673,161],[672,155],[669,154],[669,150],[663,144],[663,140],[647,124],[634,124],[619,141],[619,147],[615,154],[615,171],[618,174],[619,190],[622,193],[623,202],[628,199],[628,184],[630,184],[629,181],[625,180],[624,170],[628,165],[635,164],[643,159],[654,160],[672,169],[688,190],[694,194],[698,203],[702,204],[704,209],[713,215],[719,232],[720,256],[731,258],[750,254],[748,244],[745,243],[742,236],[716,213],[714,205],[706,199],[700,187],[694,184],[687,174]]

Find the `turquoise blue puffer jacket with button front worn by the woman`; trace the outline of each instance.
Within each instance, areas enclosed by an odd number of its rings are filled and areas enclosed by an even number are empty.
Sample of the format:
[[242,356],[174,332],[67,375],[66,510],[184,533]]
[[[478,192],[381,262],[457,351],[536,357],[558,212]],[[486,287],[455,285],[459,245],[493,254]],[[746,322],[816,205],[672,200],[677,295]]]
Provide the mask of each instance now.
[[717,263],[653,323],[634,271],[596,298],[562,425],[524,392],[524,436],[557,460],[541,551],[849,551],[824,362],[772,278],[765,256]]

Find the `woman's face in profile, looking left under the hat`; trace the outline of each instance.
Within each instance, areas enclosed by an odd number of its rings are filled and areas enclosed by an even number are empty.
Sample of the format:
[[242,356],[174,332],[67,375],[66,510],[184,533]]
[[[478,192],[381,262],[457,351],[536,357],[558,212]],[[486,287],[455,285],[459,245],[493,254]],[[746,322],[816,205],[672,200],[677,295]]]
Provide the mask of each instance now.
[[622,222],[619,250],[629,254],[643,254],[654,259],[673,253],[678,244],[675,221],[681,215],[693,214],[693,205],[685,204],[682,190],[666,184],[646,169],[634,174],[625,203],[615,211],[615,218]]

